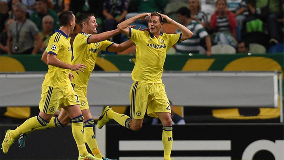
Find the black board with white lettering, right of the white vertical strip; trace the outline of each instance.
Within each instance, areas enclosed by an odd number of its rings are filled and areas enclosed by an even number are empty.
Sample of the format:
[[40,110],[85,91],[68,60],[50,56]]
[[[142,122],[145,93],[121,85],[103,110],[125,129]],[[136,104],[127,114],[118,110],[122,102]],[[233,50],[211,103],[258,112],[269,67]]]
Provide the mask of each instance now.
[[[115,131],[115,132],[114,132]],[[138,132],[106,127],[106,155],[120,160],[163,159],[162,126]],[[173,126],[172,157],[188,159],[284,159],[283,124]]]

